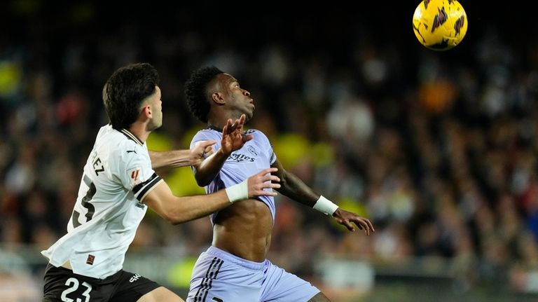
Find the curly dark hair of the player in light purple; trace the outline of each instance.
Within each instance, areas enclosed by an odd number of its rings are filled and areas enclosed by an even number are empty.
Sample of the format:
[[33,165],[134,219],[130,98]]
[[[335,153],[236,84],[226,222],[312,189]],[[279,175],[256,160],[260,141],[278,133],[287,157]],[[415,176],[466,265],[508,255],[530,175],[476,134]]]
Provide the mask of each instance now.
[[191,74],[185,82],[185,97],[188,109],[191,113],[203,123],[207,123],[210,103],[208,98],[207,85],[211,83],[216,76],[223,74],[220,69],[211,67],[201,67]]

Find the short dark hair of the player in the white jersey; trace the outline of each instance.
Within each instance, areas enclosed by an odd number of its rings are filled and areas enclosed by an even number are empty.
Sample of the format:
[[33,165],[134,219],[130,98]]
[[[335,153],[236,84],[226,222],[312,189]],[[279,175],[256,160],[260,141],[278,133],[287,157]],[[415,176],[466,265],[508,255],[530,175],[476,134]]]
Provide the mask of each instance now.
[[112,128],[129,128],[137,121],[142,101],[159,84],[159,74],[148,63],[135,63],[114,71],[103,88],[103,103]]

